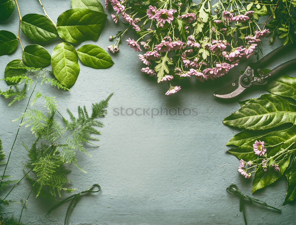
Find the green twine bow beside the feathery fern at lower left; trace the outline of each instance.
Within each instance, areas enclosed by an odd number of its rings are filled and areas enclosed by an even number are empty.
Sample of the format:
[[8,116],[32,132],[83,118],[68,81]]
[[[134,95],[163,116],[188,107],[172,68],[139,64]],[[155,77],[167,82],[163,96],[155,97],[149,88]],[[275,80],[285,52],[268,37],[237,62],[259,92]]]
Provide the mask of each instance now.
[[[96,191],[92,191],[92,189],[94,187],[98,187],[98,190]],[[58,208],[60,205],[62,205],[63,203],[65,203],[67,200],[69,200],[70,198],[73,198],[72,201],[70,202],[70,205],[68,206],[68,209],[67,209],[67,213],[66,213],[66,218],[65,218],[65,225],[68,225],[68,222],[69,222],[69,218],[70,218],[70,214],[73,210],[73,208],[75,207],[75,205],[78,203],[78,200],[79,200],[79,196],[81,194],[84,194],[84,193],[87,193],[87,192],[99,192],[101,190],[101,187],[99,184],[94,184],[93,186],[89,187],[88,189],[86,189],[85,191],[83,192],[79,192],[77,194],[74,194],[74,195],[71,195],[67,198],[65,198],[64,200],[60,201],[59,203],[57,203],[57,205],[55,205],[54,207],[52,207],[50,210],[48,210],[47,213],[50,213],[52,210],[54,210],[55,208]]]

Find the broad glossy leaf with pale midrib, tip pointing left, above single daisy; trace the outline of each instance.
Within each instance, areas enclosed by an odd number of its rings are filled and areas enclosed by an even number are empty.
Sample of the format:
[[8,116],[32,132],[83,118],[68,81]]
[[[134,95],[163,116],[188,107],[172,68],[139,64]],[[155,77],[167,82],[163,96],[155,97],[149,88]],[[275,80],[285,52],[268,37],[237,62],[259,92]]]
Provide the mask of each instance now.
[[296,106],[273,94],[263,94],[251,99],[239,110],[223,120],[223,123],[239,128],[263,130],[284,123],[295,123]]

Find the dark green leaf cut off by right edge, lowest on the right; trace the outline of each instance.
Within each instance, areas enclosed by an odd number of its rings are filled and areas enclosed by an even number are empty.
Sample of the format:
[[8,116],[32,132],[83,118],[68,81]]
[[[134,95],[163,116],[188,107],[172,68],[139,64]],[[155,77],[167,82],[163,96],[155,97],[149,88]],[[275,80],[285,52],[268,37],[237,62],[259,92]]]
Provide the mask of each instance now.
[[283,205],[286,205],[288,202],[296,199],[296,165],[294,164],[295,160],[289,170],[286,172],[286,176],[288,179],[288,190]]

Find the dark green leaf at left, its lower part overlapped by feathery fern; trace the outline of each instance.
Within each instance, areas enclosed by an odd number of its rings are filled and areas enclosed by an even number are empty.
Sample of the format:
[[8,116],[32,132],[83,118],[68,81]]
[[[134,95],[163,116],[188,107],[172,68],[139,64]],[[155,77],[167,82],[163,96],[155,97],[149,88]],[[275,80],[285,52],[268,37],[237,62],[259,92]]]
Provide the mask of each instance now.
[[[15,76],[24,76],[27,73],[27,69],[24,67],[25,67],[25,64],[22,62],[22,60],[12,60],[7,64],[5,68],[4,77],[10,78]],[[6,81],[7,85],[13,85],[13,84],[16,84],[17,82]]]

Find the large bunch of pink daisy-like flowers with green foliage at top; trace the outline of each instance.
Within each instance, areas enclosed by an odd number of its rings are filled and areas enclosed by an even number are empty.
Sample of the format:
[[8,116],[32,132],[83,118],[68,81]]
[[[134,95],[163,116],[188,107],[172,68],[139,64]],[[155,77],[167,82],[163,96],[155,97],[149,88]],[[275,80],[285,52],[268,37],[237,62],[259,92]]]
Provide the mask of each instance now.
[[139,54],[145,64],[141,71],[157,75],[158,83],[168,82],[167,95],[181,89],[172,82],[189,77],[204,82],[223,76],[255,54],[261,39],[269,34],[256,24],[256,9],[246,10],[244,4],[231,0],[219,0],[214,6],[208,0],[200,4],[189,0],[176,0],[174,4],[170,0],[148,0],[147,5],[129,2],[105,1],[106,9],[112,7],[116,12],[112,14],[114,22],[122,17],[128,26],[110,36],[111,40],[118,39],[108,49],[117,52],[123,34],[135,30],[139,38],[128,38],[126,42],[135,52],[145,50]]

